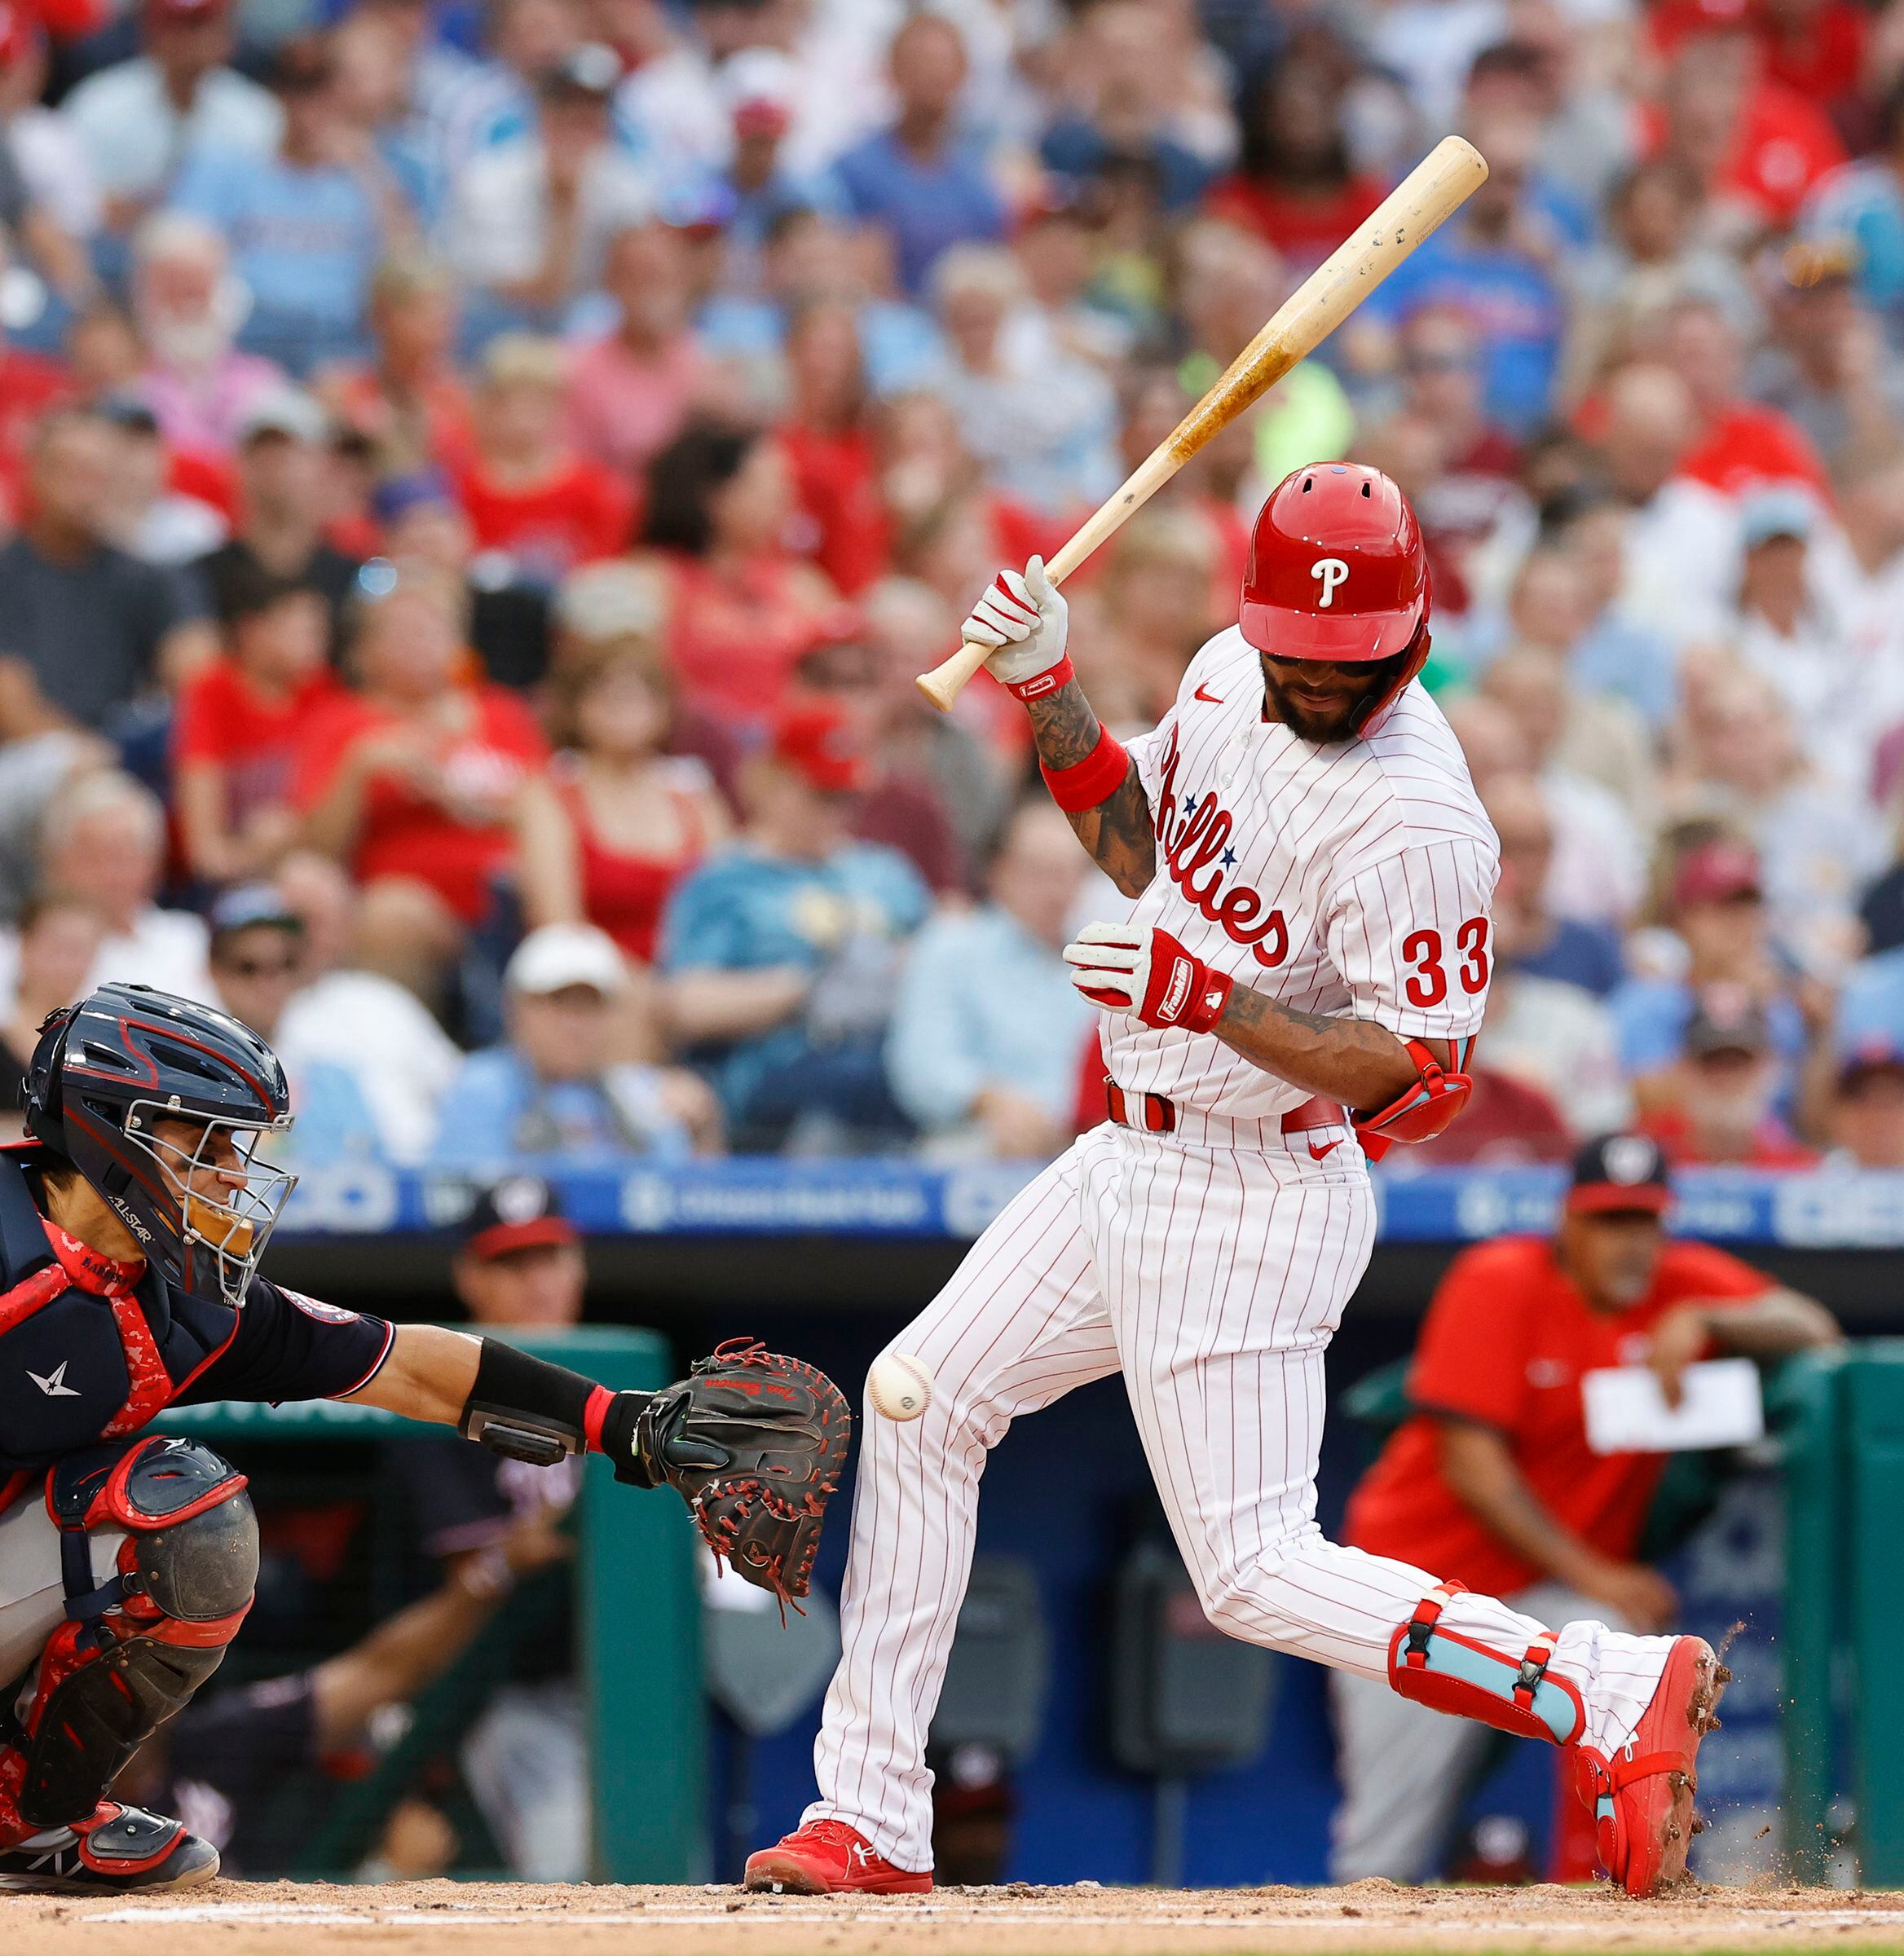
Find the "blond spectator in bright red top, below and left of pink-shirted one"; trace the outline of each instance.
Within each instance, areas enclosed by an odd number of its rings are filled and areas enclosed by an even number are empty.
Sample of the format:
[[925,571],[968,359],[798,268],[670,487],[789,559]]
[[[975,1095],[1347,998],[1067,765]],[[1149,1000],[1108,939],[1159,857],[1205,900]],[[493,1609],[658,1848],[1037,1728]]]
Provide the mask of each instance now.
[[628,546],[626,487],[567,442],[562,348],[505,333],[483,354],[476,456],[456,489],[483,550],[503,552],[519,579],[558,585],[577,563]]

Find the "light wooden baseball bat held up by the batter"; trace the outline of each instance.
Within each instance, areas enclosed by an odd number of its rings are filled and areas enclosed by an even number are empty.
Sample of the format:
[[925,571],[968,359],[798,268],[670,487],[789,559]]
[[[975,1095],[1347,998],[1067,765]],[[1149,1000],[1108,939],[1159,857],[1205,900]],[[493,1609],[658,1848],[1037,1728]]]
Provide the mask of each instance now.
[[[1487,182],[1481,153],[1446,135],[1382,200],[1374,215],[1319,264],[1276,309],[1276,317],[1231,360],[1209,393],[1145,456],[1125,485],[1092,514],[1045,565],[1055,585],[1135,514],[1158,489],[1237,415],[1268,393],[1401,264],[1409,252],[1452,217]],[[945,712],[965,690],[990,645],[967,640],[943,665],[920,673],[920,692]]]

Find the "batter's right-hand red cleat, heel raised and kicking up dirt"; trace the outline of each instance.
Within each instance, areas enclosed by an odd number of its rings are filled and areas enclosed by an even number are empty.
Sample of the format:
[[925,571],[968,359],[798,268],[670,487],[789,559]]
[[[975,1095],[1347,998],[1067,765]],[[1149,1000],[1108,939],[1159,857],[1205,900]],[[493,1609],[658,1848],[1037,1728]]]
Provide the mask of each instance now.
[[1704,1637],[1675,1637],[1652,1704],[1612,1758],[1579,1747],[1579,1790],[1593,1807],[1601,1864],[1628,1895],[1657,1895],[1685,1876],[1700,1823],[1699,1741],[1732,1672]]

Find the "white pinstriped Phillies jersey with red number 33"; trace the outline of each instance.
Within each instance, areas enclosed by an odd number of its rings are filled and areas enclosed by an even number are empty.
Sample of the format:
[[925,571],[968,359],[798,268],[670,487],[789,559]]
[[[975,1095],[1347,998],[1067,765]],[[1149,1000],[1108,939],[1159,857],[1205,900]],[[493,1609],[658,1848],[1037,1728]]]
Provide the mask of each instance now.
[[[1266,722],[1262,698],[1256,651],[1231,628],[1131,741],[1156,827],[1131,919],[1299,1011],[1411,1039],[1477,1033],[1499,859],[1440,708],[1415,683],[1372,732],[1315,743]],[[1125,1091],[1227,1119],[1307,1099],[1209,1033],[1106,1013],[1104,1048]]]

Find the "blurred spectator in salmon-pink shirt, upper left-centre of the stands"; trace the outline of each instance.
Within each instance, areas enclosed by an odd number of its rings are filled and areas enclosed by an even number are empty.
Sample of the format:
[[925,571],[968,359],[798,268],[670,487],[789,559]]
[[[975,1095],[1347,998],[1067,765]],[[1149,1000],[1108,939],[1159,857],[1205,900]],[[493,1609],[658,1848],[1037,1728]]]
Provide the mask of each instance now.
[[569,362],[575,446],[634,477],[687,424],[706,358],[689,331],[689,246],[671,225],[616,231],[601,284],[618,313],[612,333]]

